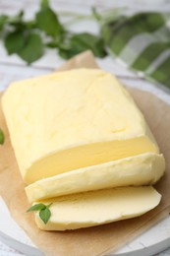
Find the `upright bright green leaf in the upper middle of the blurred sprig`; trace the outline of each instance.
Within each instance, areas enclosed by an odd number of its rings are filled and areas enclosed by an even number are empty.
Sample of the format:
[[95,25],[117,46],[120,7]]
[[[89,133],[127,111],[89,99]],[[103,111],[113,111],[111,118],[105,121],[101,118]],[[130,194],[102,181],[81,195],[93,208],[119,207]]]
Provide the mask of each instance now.
[[61,36],[64,32],[57,15],[49,8],[44,7],[36,13],[36,27],[51,36]]

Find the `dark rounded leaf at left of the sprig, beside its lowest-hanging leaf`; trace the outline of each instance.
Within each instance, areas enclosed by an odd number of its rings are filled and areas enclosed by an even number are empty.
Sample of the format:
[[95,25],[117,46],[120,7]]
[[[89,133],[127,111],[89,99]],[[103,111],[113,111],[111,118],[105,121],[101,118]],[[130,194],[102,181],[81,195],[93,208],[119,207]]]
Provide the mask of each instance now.
[[5,47],[8,54],[18,53],[25,45],[26,38],[23,32],[9,32],[5,37]]

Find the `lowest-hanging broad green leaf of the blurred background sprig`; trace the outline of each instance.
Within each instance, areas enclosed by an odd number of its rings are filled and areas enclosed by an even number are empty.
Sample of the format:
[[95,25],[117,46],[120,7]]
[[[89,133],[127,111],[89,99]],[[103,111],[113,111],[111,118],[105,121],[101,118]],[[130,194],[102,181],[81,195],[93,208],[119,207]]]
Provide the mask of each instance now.
[[18,52],[19,56],[28,64],[39,59],[43,55],[44,45],[38,33],[28,33],[25,46]]

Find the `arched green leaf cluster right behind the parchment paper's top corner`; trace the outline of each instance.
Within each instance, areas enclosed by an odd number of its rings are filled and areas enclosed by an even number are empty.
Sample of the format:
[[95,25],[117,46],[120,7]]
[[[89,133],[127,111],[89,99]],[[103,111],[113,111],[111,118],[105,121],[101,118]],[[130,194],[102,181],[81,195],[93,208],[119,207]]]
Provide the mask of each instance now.
[[88,32],[72,35],[67,44],[59,46],[59,54],[68,59],[88,49],[97,57],[103,58],[106,56],[103,40]]

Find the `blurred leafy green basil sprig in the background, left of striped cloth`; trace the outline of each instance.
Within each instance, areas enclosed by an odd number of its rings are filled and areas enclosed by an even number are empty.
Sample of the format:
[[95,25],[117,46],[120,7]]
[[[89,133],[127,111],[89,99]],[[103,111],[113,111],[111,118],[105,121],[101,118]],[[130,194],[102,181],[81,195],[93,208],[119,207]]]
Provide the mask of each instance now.
[[18,54],[28,64],[43,56],[45,47],[56,48],[62,58],[90,49],[97,57],[106,56],[103,39],[89,32],[69,32],[52,10],[48,0],[41,0],[30,21],[24,11],[16,16],[0,15],[0,38],[8,54]]

